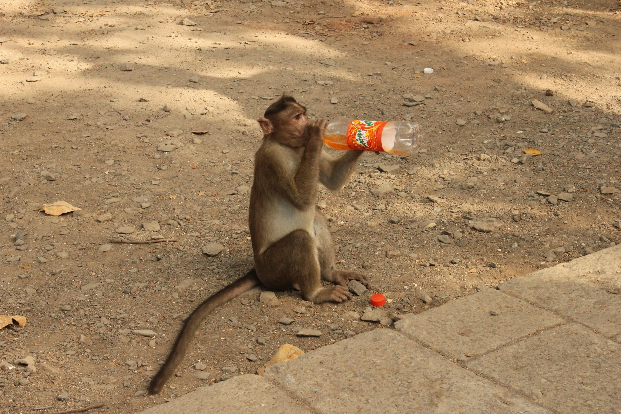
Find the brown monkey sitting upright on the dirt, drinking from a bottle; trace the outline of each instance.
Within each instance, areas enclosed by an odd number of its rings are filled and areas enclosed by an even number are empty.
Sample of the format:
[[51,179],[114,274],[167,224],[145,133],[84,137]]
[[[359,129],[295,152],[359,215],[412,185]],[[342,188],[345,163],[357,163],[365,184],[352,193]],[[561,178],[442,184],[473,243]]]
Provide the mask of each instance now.
[[[149,384],[149,394],[160,392],[204,318],[258,284],[278,290],[296,284],[304,299],[315,304],[350,299],[351,279],[369,286],[360,273],[334,269],[332,235],[315,209],[317,182],[330,190],[342,188],[362,151],[347,151],[336,159],[323,153],[327,122],[309,123],[306,108],[290,96],[271,104],[258,122],[265,135],[255,155],[248,209],[255,267],[194,310]],[[322,279],[336,286],[322,287]]]

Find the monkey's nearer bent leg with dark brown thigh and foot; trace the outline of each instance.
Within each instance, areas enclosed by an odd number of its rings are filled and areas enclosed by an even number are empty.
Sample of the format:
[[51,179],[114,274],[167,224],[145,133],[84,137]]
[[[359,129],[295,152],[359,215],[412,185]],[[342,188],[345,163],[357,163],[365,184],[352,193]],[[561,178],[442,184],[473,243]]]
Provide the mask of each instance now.
[[294,230],[272,243],[255,258],[255,269],[268,289],[286,289],[297,284],[304,299],[315,304],[351,298],[346,287],[321,286],[317,248],[306,230]]

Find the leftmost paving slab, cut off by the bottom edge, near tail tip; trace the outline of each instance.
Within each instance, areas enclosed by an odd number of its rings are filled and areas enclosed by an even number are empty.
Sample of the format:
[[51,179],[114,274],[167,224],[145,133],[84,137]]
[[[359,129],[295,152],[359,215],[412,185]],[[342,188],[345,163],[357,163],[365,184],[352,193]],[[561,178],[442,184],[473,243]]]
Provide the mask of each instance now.
[[199,388],[183,397],[156,405],[144,414],[265,413],[291,414],[311,412],[258,375],[242,375]]

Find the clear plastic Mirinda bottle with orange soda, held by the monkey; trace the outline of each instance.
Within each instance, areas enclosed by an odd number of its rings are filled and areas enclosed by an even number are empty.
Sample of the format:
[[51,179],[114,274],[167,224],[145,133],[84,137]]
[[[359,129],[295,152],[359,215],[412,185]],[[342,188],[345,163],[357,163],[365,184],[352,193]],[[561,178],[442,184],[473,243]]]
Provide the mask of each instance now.
[[386,151],[412,155],[418,146],[420,127],[407,121],[365,121],[338,118],[330,121],[324,142],[335,150]]

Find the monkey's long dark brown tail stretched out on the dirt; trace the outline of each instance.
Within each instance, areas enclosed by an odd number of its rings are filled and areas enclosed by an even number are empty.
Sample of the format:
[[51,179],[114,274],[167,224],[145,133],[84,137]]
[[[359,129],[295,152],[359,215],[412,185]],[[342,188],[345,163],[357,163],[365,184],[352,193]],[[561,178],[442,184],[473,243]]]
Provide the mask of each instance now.
[[168,381],[168,378],[175,372],[176,367],[185,356],[186,351],[188,351],[188,346],[192,338],[194,338],[194,334],[207,315],[215,308],[224,305],[231,299],[235,299],[238,295],[247,292],[258,284],[260,284],[259,279],[256,277],[255,269],[252,268],[245,276],[240,277],[229,286],[211,295],[194,309],[194,312],[186,319],[183,328],[179,331],[175,345],[173,345],[173,349],[170,351],[170,354],[168,354],[166,362],[164,362],[160,371],[158,371],[151,380],[148,388],[149,394],[158,394],[164,387],[166,381]]

